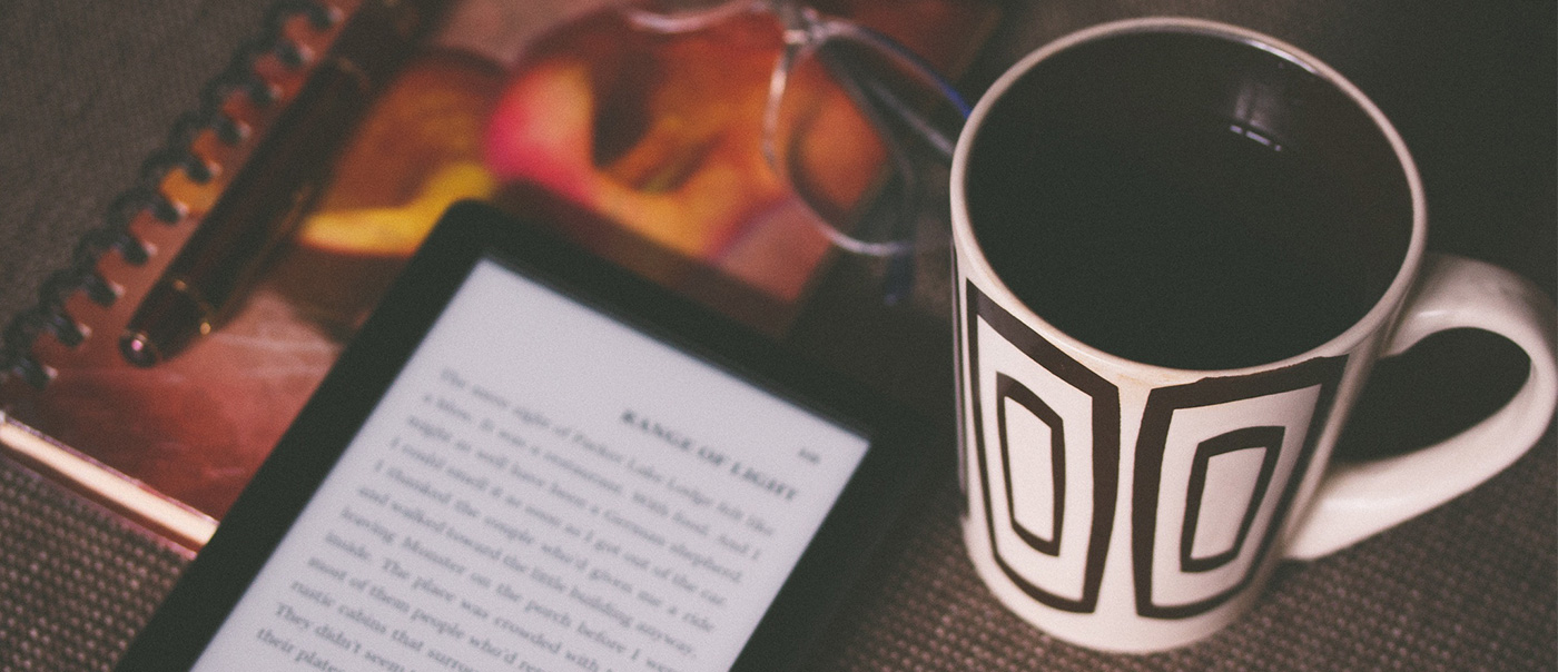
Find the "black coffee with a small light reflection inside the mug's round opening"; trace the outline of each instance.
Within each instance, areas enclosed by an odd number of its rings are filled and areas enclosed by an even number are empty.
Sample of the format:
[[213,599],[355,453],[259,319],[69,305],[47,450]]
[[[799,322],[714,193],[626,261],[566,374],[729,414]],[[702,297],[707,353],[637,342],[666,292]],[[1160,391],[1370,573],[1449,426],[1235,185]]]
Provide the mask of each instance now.
[[1410,235],[1388,143],[1288,61],[1197,34],[1058,55],[971,148],[1000,279],[1072,337],[1221,370],[1315,348],[1379,301]]

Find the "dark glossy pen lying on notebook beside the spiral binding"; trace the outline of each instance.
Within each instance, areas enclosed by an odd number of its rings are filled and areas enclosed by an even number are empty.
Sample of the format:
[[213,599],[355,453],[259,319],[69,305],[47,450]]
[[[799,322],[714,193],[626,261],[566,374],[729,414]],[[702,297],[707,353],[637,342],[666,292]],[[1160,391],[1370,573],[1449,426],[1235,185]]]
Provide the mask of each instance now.
[[430,30],[442,0],[368,0],[142,299],[120,338],[151,366],[224,321],[285,240],[377,90]]

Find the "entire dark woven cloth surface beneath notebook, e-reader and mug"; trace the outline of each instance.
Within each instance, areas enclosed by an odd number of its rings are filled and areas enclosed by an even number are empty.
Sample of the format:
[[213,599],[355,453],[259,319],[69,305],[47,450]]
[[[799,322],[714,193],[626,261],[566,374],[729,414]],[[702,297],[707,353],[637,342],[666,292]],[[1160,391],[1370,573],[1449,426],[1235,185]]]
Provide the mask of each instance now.
[[[76,239],[98,226],[201,84],[259,33],[266,5],[6,3],[0,321],[69,262]],[[1246,25],[1335,65],[1413,148],[1429,189],[1430,248],[1514,268],[1558,293],[1552,3],[1014,2],[964,87],[977,94],[1059,34],[1145,14]],[[849,268],[829,282],[835,290],[802,318],[791,345],[852,338],[844,346],[874,346],[883,355],[862,360],[876,366],[865,376],[901,379],[913,388],[911,402],[938,404],[944,385],[927,379],[939,376],[944,341],[919,337],[935,324],[854,310]],[[1416,362],[1382,366],[1382,391],[1360,409],[1340,451],[1391,452],[1454,432],[1507,396],[1524,371],[1516,351],[1475,335],[1436,338],[1421,351],[1408,357]],[[925,357],[941,359],[930,365]],[[994,602],[966,561],[957,486],[943,469],[905,511],[810,667],[1555,669],[1555,491],[1549,429],[1514,466],[1444,507],[1323,560],[1284,564],[1248,617],[1209,641],[1116,656],[1055,641]],[[0,538],[6,670],[111,669],[187,564],[174,549],[6,460]]]

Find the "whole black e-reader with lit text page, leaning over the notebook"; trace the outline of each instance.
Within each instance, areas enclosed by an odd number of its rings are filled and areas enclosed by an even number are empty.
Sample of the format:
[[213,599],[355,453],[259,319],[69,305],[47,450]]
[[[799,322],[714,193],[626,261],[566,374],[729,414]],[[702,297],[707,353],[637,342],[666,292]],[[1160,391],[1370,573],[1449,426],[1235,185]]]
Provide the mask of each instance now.
[[456,204],[118,669],[784,669],[930,435],[544,226]]

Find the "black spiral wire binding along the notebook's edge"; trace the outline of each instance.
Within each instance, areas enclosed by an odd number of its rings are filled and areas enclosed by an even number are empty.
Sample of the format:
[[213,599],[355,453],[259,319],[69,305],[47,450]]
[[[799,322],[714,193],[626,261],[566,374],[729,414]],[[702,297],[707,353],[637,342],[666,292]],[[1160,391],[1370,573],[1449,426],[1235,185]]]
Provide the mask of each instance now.
[[37,302],[19,313],[0,334],[0,382],[8,377],[26,380],[34,388],[45,388],[53,379],[53,370],[31,351],[33,341],[50,334],[65,346],[86,341],[87,331],[65,309],[65,301],[83,292],[98,306],[111,306],[118,299],[118,288],[97,270],[98,260],[108,253],[118,253],[125,262],[140,267],[150,259],[150,251],[131,231],[131,223],[142,212],[157,221],[173,226],[182,221],[187,207],[162,193],[162,182],[170,173],[181,170],[196,184],[209,184],[215,176],[210,165],[195,151],[195,140],[206,131],[226,147],[251,142],[254,134],[243,120],[224,111],[232,97],[246,97],[256,108],[277,103],[279,90],[256,65],[273,56],[291,72],[308,65],[308,55],[287,37],[288,23],[302,19],[315,31],[327,31],[343,20],[343,11],[326,0],[280,0],[266,11],[262,33],[241,44],[215,78],[206,83],[199,94],[199,106],[179,115],[168,131],[162,148],[140,164],[136,181],[120,192],[108,206],[103,226],[81,237],[72,251],[65,268],[51,273],[39,288]]

